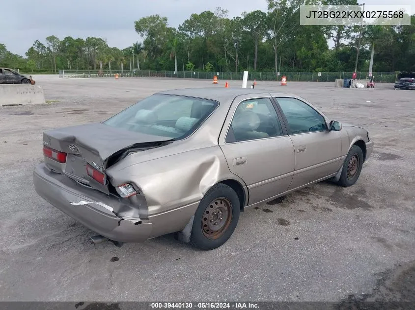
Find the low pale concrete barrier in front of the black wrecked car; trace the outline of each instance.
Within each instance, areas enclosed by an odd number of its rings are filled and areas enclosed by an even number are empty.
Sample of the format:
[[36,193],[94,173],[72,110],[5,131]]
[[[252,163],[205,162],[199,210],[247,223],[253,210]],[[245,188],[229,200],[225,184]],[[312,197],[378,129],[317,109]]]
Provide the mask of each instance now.
[[42,86],[27,84],[0,85],[0,106],[45,103]]

